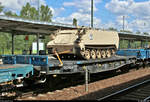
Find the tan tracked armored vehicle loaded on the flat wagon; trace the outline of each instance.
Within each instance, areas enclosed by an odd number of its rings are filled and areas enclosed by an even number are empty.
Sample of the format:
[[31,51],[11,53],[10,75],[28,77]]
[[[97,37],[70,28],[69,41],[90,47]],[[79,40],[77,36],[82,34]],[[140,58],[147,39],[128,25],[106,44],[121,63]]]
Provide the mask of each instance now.
[[61,30],[50,36],[49,54],[57,52],[61,58],[80,57],[100,59],[111,57],[119,46],[118,33],[90,28]]

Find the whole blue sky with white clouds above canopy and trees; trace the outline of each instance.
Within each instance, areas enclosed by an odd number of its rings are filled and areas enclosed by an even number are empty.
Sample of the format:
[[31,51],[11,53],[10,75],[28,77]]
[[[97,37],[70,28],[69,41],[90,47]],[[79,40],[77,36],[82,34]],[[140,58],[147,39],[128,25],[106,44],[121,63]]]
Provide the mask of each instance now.
[[[27,2],[37,7],[37,0],[0,0],[6,10],[19,12]],[[90,26],[91,0],[40,0],[53,11],[53,21],[72,24],[76,18],[81,26]],[[12,6],[13,5],[13,6]],[[150,0],[94,0],[94,27],[125,29],[150,33]]]

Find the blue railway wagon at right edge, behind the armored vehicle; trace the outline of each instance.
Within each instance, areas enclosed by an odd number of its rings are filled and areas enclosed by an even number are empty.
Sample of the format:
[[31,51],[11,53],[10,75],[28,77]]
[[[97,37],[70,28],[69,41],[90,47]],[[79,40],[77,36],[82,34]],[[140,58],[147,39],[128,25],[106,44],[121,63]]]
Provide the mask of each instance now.
[[119,56],[135,56],[138,60],[150,58],[150,49],[121,49],[116,52]]

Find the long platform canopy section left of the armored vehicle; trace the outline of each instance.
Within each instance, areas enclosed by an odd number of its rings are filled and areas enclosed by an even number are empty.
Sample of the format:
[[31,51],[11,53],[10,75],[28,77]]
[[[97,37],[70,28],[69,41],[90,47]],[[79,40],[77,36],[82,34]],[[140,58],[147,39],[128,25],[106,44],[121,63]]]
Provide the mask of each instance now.
[[42,22],[35,20],[27,20],[22,18],[12,18],[0,16],[0,32],[8,32],[15,34],[45,34],[49,35],[52,32],[61,29],[77,29],[71,24],[62,24],[54,22]]

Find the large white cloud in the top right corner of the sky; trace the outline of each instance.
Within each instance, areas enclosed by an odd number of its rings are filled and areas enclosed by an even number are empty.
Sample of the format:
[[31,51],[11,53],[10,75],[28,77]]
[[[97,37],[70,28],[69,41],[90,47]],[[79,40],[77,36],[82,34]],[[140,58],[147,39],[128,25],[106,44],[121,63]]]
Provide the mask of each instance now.
[[117,15],[133,15],[136,17],[150,16],[150,1],[135,2],[134,0],[111,0],[106,9]]

